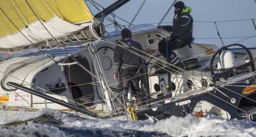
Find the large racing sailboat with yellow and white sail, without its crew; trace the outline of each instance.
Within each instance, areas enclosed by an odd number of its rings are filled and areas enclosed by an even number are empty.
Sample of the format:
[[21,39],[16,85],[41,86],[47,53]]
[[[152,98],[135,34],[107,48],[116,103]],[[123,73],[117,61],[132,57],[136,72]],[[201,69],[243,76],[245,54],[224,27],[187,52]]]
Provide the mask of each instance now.
[[0,2],[2,109],[51,108],[127,120],[189,114],[255,120],[256,51],[241,44],[192,43],[174,51],[181,68],[158,52],[168,31],[130,27],[145,50],[135,56],[148,66],[137,75],[140,94],[120,91],[120,81],[113,79],[113,54],[116,46],[127,45],[116,43],[120,31],[105,31],[102,21],[127,2],[114,2],[97,19],[82,0]]

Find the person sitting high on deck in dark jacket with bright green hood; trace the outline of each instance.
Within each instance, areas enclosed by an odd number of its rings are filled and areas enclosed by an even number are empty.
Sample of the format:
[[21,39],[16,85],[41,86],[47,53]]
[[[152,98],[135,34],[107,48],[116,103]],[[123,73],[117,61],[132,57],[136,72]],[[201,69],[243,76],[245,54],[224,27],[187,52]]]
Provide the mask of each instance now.
[[173,51],[192,43],[193,18],[190,15],[190,12],[192,11],[191,8],[185,6],[184,2],[176,2],[174,8],[175,15],[173,18],[173,26],[158,26],[158,28],[171,32],[171,36],[168,36],[158,43],[158,48],[160,53],[167,58],[166,41],[168,41],[171,56],[170,62],[176,64],[179,62],[179,59],[177,59],[176,54]]

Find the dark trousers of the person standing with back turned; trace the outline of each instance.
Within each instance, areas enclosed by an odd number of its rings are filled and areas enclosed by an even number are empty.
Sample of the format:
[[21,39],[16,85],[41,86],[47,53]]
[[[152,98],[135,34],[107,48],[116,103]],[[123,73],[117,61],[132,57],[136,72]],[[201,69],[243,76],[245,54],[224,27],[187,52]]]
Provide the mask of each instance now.
[[120,73],[120,88],[121,90],[129,90],[132,89],[133,93],[139,93],[139,81],[140,77],[135,77],[139,68],[125,68],[121,70]]

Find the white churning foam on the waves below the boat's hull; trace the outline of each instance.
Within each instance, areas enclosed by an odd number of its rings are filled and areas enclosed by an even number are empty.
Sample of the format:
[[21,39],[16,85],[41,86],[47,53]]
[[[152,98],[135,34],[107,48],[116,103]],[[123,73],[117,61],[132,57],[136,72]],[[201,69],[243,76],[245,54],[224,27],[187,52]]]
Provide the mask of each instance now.
[[[171,117],[166,120],[160,120],[156,123],[150,120],[139,122],[127,122],[121,120],[98,120],[81,118],[74,115],[69,115],[62,112],[57,112],[51,109],[42,109],[39,112],[16,112],[15,117],[7,114],[0,114],[0,123],[14,122],[18,120],[28,120],[30,118],[39,117],[40,115],[48,114],[63,122],[61,127],[67,129],[88,130],[98,128],[101,130],[113,130],[119,132],[126,132],[127,130],[135,131],[153,131],[165,133],[171,136],[256,136],[256,122],[245,122],[241,120],[226,120],[216,116],[197,118],[191,115],[187,117]],[[48,125],[38,125],[29,122],[25,129],[38,132],[56,133],[58,136],[64,136],[63,131],[56,127]],[[24,125],[14,128],[15,131],[22,130]],[[50,131],[51,130],[51,131]],[[6,128],[0,127],[0,131],[6,131]],[[24,132],[24,131],[23,131]],[[11,132],[10,132],[11,134]]]

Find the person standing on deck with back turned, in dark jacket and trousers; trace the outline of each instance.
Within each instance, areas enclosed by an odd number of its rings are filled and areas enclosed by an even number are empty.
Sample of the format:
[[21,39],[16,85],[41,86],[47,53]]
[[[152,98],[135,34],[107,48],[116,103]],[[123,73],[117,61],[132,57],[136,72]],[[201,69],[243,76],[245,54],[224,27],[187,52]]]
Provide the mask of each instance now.
[[[116,46],[114,49],[114,79],[118,79],[118,73],[120,73],[120,89],[128,90],[129,86],[134,92],[139,92],[139,77],[135,77],[139,68],[145,64],[145,60],[142,57],[137,56],[133,52],[143,56],[142,46],[136,41],[132,41],[132,32],[124,28],[121,31],[121,42],[125,43],[128,47],[122,48]],[[139,49],[140,51],[136,50]]]

